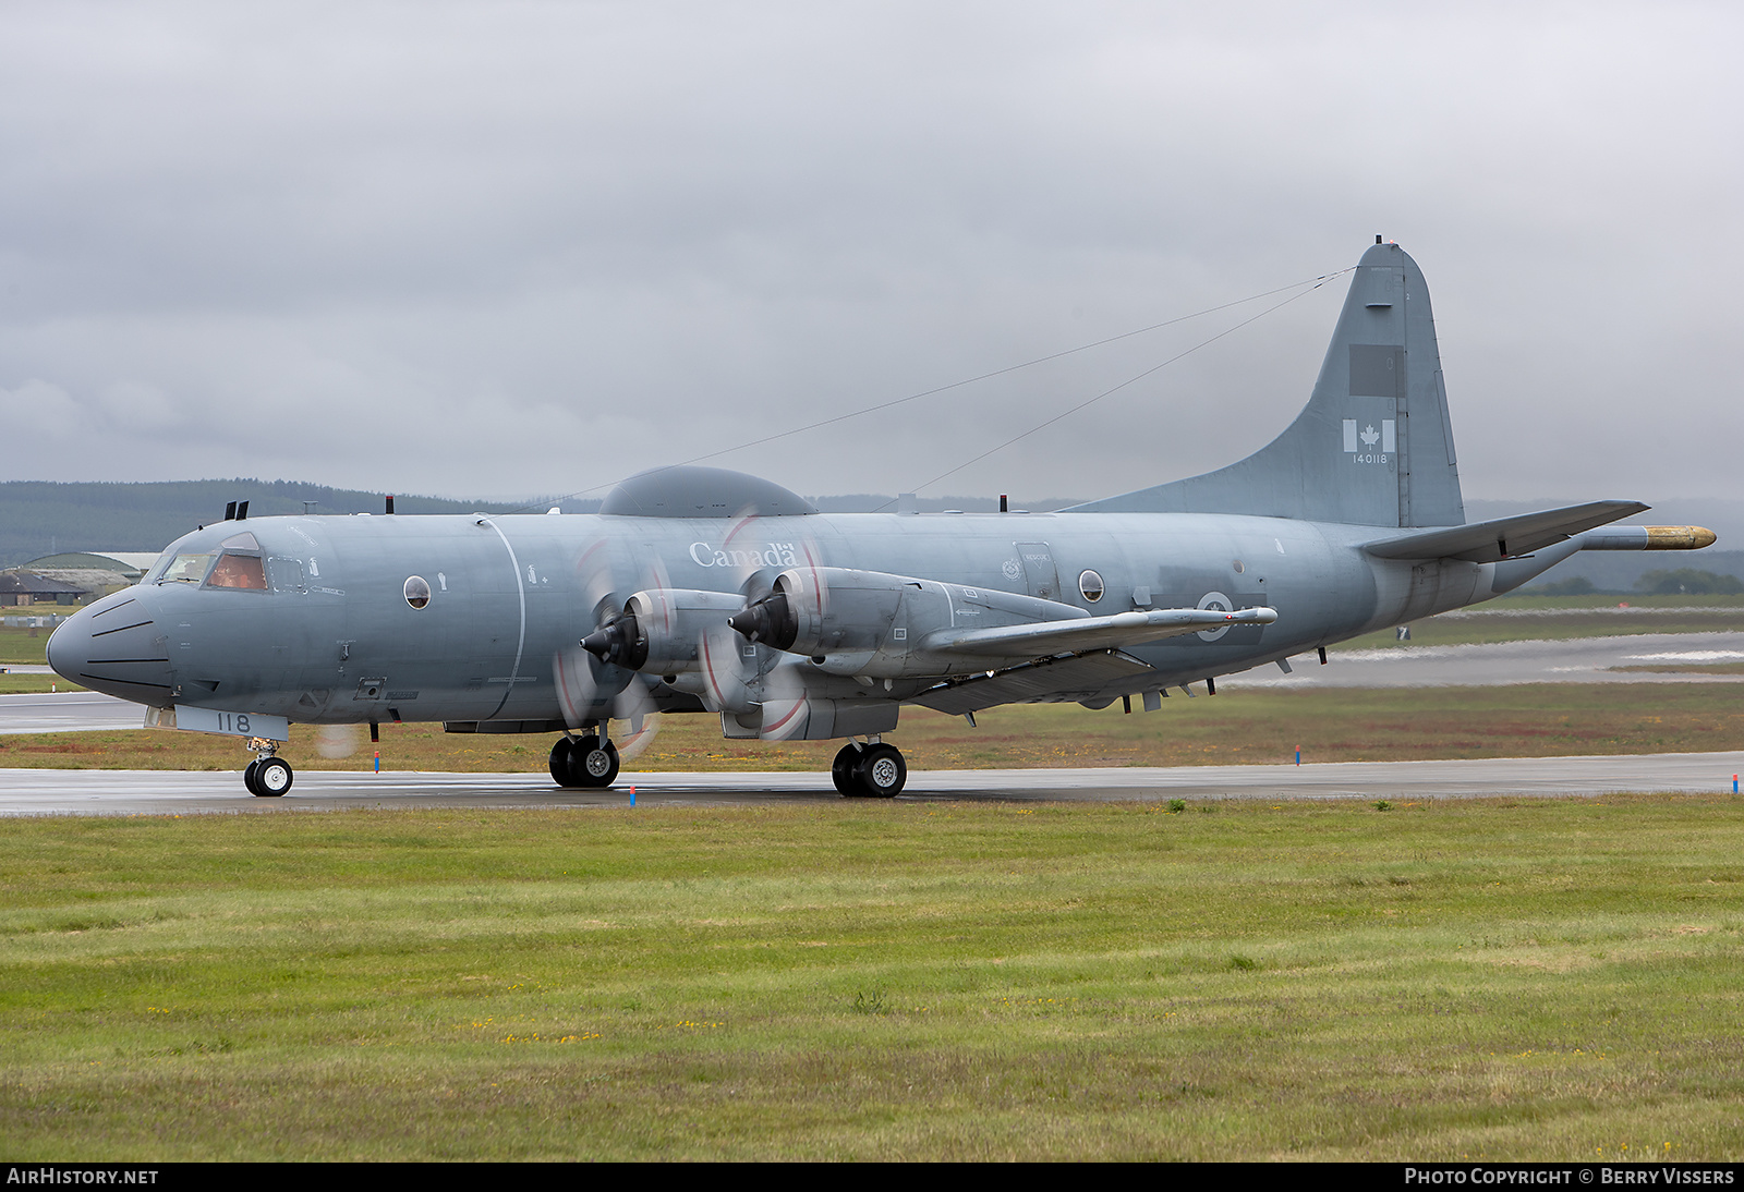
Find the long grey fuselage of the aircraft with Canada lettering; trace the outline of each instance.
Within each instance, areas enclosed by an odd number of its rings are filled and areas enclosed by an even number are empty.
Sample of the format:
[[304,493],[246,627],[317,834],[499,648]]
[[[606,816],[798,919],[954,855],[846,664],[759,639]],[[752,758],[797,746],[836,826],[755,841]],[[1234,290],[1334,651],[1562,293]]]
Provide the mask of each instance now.
[[[171,544],[138,586],[65,622],[49,660],[72,681],[157,708],[302,723],[537,723],[562,718],[558,659],[602,610],[651,587],[746,593],[807,559],[1039,596],[1092,615],[1278,612],[1270,626],[1127,648],[1151,671],[1087,699],[1106,702],[1495,594],[1493,565],[1367,556],[1362,544],[1383,533],[1120,512],[256,518]],[[816,683],[820,695],[832,695],[832,683],[867,694],[851,674],[820,673]],[[935,683],[905,678],[875,695],[903,702]],[[671,711],[703,709],[684,683],[654,694]]]

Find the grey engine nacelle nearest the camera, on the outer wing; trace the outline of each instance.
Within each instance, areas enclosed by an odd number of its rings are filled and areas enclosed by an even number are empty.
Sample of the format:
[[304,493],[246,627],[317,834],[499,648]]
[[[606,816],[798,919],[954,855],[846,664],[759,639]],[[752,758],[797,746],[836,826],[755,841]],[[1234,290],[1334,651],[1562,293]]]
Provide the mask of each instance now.
[[1083,617],[1036,596],[841,566],[781,572],[774,591],[727,624],[748,640],[802,654],[837,674],[900,678],[987,669],[926,650],[940,629],[992,629]]

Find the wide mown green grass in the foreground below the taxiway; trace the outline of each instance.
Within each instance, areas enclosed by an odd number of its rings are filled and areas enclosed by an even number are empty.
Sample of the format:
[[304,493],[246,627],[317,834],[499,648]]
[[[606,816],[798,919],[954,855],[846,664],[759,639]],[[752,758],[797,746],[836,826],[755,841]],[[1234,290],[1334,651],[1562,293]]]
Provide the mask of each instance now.
[[0,1152],[1735,1161],[1741,856],[1728,796],[16,819]]

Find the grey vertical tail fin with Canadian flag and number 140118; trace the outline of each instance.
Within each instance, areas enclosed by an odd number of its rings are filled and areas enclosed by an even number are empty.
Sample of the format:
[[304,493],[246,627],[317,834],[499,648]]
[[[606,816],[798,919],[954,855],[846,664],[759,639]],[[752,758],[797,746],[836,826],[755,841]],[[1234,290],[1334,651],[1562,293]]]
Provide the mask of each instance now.
[[1073,512],[1235,512],[1367,526],[1465,525],[1423,272],[1397,244],[1362,254],[1313,396],[1240,464]]

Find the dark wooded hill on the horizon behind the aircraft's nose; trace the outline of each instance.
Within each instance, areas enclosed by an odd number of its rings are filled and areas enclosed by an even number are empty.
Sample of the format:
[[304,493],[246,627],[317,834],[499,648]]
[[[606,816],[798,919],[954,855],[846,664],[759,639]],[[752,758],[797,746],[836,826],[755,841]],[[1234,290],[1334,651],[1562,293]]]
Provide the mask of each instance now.
[[[296,481],[211,479],[157,484],[0,483],[0,566],[59,551],[159,551],[199,525],[223,518],[232,500],[249,502],[251,518],[382,512],[384,495]],[[570,505],[582,511],[579,502]],[[598,507],[589,502],[588,507]],[[394,497],[401,514],[509,512],[516,505],[439,497]]]

